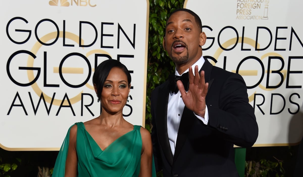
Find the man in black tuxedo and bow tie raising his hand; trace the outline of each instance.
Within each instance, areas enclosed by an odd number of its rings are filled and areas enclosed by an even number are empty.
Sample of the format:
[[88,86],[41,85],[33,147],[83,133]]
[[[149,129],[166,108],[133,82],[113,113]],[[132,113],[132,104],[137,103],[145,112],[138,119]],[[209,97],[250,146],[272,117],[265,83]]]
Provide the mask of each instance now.
[[[177,76],[151,95],[155,166],[164,177],[238,176],[233,146],[251,147],[258,137],[243,78],[205,60],[205,41],[194,12],[178,9],[169,16],[163,47]],[[189,84],[178,80],[181,74],[188,80],[187,71]]]

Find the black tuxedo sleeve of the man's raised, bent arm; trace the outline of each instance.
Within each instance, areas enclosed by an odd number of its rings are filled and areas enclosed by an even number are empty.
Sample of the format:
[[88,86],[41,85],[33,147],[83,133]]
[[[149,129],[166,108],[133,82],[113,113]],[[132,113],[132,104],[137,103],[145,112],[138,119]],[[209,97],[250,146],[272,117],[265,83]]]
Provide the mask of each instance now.
[[258,138],[258,124],[254,110],[248,102],[243,78],[232,73],[218,90],[217,104],[206,101],[208,127],[220,131],[222,138],[234,145],[251,147]]

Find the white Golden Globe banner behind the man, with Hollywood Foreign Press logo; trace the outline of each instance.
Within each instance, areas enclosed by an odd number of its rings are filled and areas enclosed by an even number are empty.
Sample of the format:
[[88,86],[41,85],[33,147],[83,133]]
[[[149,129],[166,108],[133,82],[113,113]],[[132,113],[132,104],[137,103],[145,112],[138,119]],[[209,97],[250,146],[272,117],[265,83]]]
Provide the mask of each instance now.
[[303,2],[186,0],[208,37],[203,55],[248,86],[254,146],[295,145],[303,136]]

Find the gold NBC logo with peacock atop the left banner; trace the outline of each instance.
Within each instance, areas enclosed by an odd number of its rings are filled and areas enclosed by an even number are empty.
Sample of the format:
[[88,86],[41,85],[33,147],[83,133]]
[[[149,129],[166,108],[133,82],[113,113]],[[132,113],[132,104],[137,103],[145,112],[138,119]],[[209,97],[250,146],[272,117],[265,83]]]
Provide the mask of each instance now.
[[96,4],[92,5],[91,0],[50,0],[48,4],[52,6],[62,6],[62,7],[69,7],[69,6],[96,7]]

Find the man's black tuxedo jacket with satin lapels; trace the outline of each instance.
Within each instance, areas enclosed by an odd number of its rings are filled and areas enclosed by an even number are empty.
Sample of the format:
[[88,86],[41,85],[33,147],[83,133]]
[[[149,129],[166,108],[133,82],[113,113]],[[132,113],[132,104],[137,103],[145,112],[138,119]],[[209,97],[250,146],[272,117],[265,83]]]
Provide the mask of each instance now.
[[208,124],[185,107],[174,156],[167,133],[169,82],[156,87],[151,94],[155,166],[156,171],[163,169],[164,177],[238,176],[233,145],[251,147],[258,137],[258,125],[243,78],[212,66],[208,60],[201,70],[209,83]]

